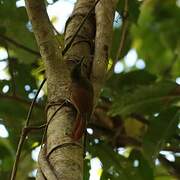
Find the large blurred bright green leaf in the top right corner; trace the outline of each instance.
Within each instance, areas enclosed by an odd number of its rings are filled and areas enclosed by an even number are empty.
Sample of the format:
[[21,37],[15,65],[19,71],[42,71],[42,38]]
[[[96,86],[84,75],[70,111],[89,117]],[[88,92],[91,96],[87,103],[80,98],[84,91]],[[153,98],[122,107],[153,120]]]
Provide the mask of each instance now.
[[[131,28],[133,45],[139,58],[145,60],[149,71],[163,78],[168,75],[164,71],[173,64],[175,54],[179,52],[179,18],[176,1],[144,1],[138,26],[133,25]],[[180,75],[179,58],[171,68],[173,77]]]

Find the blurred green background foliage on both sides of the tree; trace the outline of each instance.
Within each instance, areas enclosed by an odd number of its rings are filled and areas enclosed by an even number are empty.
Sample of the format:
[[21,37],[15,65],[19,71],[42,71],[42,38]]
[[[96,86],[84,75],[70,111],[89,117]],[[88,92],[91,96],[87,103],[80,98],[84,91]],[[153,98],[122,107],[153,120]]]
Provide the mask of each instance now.
[[[180,177],[180,86],[176,83],[180,77],[178,2],[129,0],[127,37],[118,57],[123,72],[110,75],[99,101],[100,105],[104,99],[110,104],[106,116],[121,123],[122,134],[118,138],[125,138],[125,142],[114,144],[114,134],[110,134],[110,138],[103,133],[89,135],[84,179],[89,179],[90,160],[94,157],[102,163],[101,180],[172,180]],[[123,10],[124,1],[119,1],[120,18]],[[0,50],[3,48],[8,53],[5,59],[0,53],[0,66],[6,65],[3,72],[9,77],[3,79],[0,75],[0,125],[9,133],[6,138],[0,134],[0,179],[8,179],[21,128],[43,75],[35,73],[42,63],[25,8],[16,7],[16,0],[1,0],[0,21]],[[113,61],[122,35],[122,23],[113,32],[110,53]],[[17,46],[7,37],[35,53]],[[132,49],[138,58],[133,65],[128,65],[126,58]],[[139,59],[145,63],[144,69],[138,66]],[[31,125],[43,124],[45,88],[43,92],[34,107]],[[110,132],[117,129],[115,126]],[[28,136],[17,179],[27,179],[27,176],[33,179],[36,162],[32,160],[31,152],[41,142],[41,137],[41,131]],[[129,137],[138,145],[128,143]],[[125,152],[120,152],[120,148]],[[162,155],[162,150],[174,159]]]

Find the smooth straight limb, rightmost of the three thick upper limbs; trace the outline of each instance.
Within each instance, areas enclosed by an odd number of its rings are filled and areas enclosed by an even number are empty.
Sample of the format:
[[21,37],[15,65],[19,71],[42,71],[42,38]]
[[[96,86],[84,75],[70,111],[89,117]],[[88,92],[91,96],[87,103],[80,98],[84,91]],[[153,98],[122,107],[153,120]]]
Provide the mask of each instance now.
[[95,8],[96,37],[91,76],[94,86],[95,104],[107,73],[116,2],[116,0],[103,0]]

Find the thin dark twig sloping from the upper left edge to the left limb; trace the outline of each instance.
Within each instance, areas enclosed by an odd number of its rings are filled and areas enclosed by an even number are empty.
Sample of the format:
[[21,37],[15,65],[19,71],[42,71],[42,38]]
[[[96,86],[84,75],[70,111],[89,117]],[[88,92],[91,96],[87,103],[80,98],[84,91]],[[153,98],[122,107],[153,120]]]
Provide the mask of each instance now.
[[11,43],[11,44],[13,44],[13,45],[15,45],[15,46],[17,46],[17,47],[19,47],[19,48],[21,48],[21,49],[23,49],[23,50],[25,50],[25,51],[27,51],[27,52],[29,52],[29,53],[31,53],[31,54],[34,54],[36,56],[41,56],[39,52],[37,52],[31,48],[28,48],[28,47],[18,43],[17,41],[15,41],[15,40],[13,40],[13,39],[5,36],[5,35],[0,34],[0,38]]

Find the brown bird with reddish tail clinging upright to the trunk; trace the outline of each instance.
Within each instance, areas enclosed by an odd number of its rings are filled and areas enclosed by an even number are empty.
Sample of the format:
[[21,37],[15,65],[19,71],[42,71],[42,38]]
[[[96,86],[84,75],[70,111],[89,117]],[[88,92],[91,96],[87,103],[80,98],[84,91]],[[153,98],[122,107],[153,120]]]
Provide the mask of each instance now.
[[71,137],[78,141],[86,131],[86,123],[93,111],[94,91],[90,80],[82,73],[84,57],[71,71],[70,101],[76,109],[76,119]]

